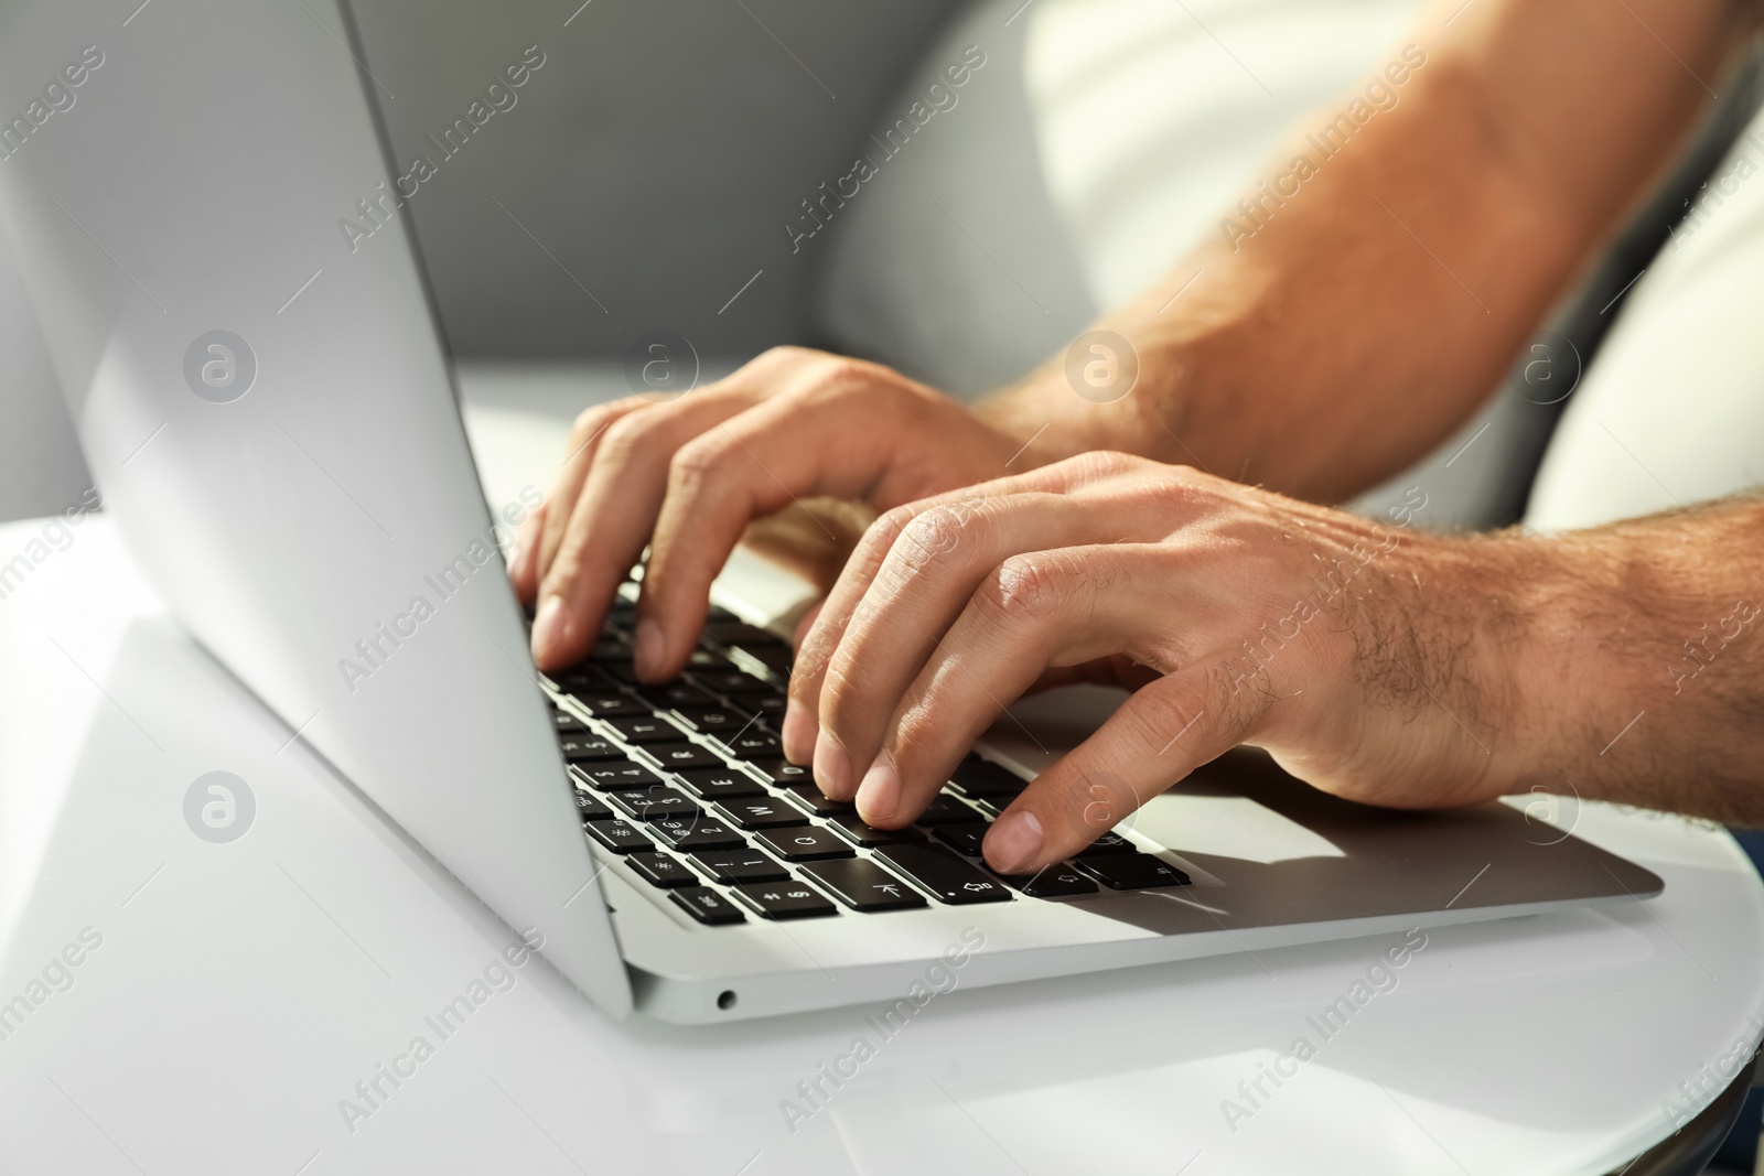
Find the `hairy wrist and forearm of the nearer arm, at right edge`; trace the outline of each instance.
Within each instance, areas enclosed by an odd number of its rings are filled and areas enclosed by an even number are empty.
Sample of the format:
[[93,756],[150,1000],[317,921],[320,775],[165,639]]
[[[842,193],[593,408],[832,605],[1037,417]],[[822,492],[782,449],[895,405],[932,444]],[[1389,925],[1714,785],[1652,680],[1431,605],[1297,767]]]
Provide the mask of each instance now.
[[1533,783],[1764,823],[1764,501],[1517,543]]

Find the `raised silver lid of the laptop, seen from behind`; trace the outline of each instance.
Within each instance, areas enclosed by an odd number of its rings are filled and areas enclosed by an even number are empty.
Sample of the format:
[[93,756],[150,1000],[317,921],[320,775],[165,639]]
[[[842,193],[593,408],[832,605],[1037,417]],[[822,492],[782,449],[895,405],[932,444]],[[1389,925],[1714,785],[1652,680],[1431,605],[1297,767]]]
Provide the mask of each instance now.
[[623,1016],[346,16],[127,16],[0,14],[0,217],[104,501],[203,645]]

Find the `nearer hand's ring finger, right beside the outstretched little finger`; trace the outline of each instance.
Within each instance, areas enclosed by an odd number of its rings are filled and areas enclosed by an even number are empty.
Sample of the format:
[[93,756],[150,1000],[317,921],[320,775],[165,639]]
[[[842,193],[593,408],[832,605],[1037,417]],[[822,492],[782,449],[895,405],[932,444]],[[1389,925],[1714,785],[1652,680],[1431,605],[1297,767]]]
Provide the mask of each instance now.
[[884,829],[917,818],[974,741],[1050,668],[1122,651],[1170,668],[1178,654],[1140,642],[1147,617],[1191,605],[1171,562],[1157,547],[1108,543],[998,564],[893,707],[857,788],[859,815]]

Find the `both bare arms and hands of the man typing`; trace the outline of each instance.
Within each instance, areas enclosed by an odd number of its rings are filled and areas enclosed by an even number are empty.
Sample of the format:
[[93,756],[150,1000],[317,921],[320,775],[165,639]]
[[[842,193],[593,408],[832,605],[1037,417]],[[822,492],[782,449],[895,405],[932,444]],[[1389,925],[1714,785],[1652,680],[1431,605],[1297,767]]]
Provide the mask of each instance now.
[[[536,661],[584,652],[647,543],[637,663],[670,677],[734,543],[783,513],[831,582],[785,751],[870,822],[907,823],[1025,689],[1136,691],[998,820],[1002,869],[1057,860],[1237,742],[1379,804],[1542,783],[1764,818],[1755,502],[1561,538],[1316,504],[1476,409],[1753,18],[1732,0],[1431,9],[1395,108],[1247,240],[1203,245],[1101,323],[1140,360],[1120,400],[1076,395],[1064,356],[970,413],[778,349],[672,404],[584,413],[512,561]],[[811,499],[847,502],[845,525]]]

